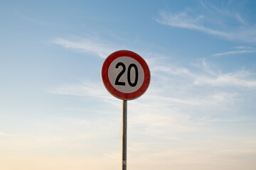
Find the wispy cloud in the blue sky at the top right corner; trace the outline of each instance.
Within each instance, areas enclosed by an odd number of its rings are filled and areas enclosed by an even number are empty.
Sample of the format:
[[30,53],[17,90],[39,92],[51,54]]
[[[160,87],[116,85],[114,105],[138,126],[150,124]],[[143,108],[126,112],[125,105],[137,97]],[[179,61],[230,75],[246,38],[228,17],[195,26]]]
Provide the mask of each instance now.
[[[202,6],[208,9],[208,11],[202,12],[203,14],[195,14],[193,10],[178,13],[161,11],[160,17],[156,21],[171,27],[199,30],[229,40],[256,42],[256,25],[254,23],[247,24],[240,13],[230,13],[226,8],[218,8],[209,3],[202,3]],[[223,21],[214,21],[213,18]],[[230,20],[235,20],[236,25],[229,26]]]

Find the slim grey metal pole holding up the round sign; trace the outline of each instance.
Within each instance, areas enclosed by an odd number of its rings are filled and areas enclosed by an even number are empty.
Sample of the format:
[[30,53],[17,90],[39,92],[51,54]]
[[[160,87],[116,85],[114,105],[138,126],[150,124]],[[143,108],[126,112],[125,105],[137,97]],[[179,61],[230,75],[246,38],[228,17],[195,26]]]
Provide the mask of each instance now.
[[127,100],[122,101],[122,170],[127,170]]

